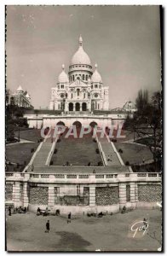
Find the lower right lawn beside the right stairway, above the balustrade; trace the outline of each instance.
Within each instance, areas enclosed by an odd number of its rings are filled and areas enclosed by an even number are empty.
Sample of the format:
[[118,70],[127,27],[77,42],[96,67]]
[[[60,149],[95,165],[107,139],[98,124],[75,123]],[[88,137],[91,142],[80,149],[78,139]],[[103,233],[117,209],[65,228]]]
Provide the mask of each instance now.
[[114,145],[118,150],[123,150],[123,153],[120,155],[124,163],[129,161],[130,165],[140,164],[143,158],[145,160],[153,160],[153,154],[146,146],[135,143],[114,143]]

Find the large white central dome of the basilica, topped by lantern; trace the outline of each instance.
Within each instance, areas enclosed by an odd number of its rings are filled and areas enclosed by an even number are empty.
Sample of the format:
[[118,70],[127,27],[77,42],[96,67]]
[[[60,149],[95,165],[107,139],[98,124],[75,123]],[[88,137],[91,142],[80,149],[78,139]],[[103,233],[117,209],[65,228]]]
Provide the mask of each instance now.
[[79,48],[78,51],[72,56],[71,65],[75,64],[85,64],[91,66],[89,55],[83,50],[83,38],[79,38]]

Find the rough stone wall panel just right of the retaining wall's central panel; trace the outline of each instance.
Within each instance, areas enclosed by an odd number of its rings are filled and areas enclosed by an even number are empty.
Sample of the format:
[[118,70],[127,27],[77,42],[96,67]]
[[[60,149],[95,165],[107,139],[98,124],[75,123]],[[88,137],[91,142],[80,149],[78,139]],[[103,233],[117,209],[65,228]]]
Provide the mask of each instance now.
[[119,190],[116,187],[96,187],[95,204],[97,206],[109,206],[119,203]]

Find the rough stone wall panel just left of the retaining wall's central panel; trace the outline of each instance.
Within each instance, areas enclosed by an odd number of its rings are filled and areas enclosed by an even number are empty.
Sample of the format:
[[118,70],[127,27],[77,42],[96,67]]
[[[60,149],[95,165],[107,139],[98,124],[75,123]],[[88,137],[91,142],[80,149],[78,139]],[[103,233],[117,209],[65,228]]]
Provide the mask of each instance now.
[[35,205],[48,205],[49,193],[48,187],[33,187],[29,188],[29,201]]

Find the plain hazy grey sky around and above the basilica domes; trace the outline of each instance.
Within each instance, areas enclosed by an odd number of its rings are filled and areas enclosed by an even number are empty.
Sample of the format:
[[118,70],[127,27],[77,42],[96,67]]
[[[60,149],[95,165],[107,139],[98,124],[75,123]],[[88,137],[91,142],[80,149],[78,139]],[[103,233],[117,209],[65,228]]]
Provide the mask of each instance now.
[[65,64],[83,49],[103,84],[109,86],[110,108],[135,101],[138,90],[161,90],[158,6],[7,6],[7,88],[19,85],[34,108],[49,107]]

